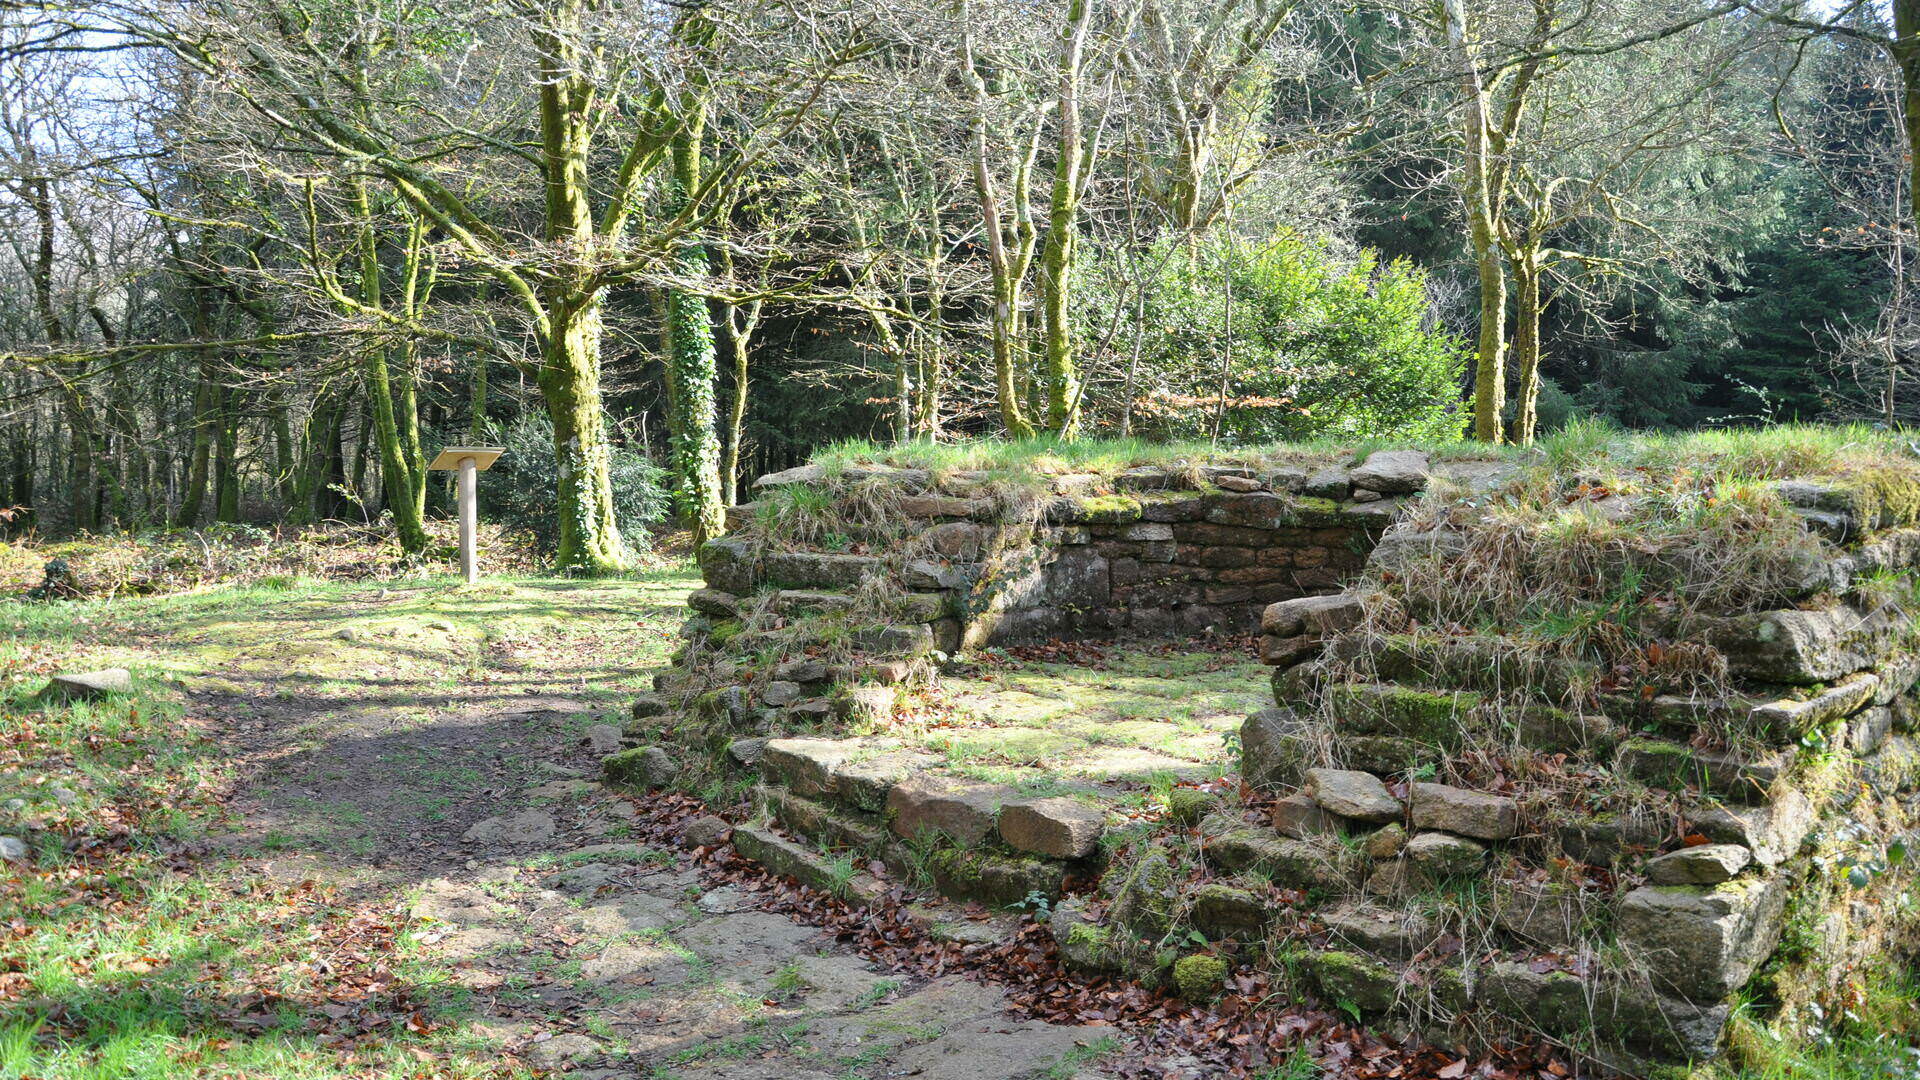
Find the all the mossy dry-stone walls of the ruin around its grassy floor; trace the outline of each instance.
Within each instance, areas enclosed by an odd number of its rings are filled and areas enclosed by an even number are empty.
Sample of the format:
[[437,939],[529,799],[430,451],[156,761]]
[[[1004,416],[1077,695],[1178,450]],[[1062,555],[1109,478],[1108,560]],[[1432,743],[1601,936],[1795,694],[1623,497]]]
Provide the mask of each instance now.
[[[1503,557],[1484,523],[1511,473],[1379,452],[762,477],[701,550],[687,644],[609,773],[751,784],[735,846],[820,888],[877,894],[879,861],[1044,899],[1087,972],[1198,997],[1225,955],[1375,1022],[1546,1036],[1630,1074],[1715,1055],[1741,994],[1807,1007],[1912,947],[1910,515],[1778,484],[1816,538],[1778,601],[1609,611],[1645,653],[1622,671],[1551,648],[1563,613],[1521,632],[1421,607],[1463,559]],[[1597,519],[1645,513],[1571,482]],[[1240,730],[1244,786],[1175,788],[1156,836],[1116,846],[1096,801],[954,776],[887,734],[972,650],[1198,632],[1258,632],[1275,707]],[[1187,965],[1196,936],[1208,963]]]

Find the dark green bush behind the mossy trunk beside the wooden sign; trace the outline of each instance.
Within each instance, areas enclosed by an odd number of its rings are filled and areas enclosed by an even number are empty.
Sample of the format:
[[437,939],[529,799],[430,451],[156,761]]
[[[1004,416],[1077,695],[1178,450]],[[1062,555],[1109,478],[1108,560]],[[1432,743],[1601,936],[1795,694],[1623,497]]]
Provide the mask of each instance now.
[[[488,517],[530,534],[541,552],[553,552],[561,528],[553,421],[540,411],[520,413],[505,427],[495,425],[488,438],[507,450],[480,484]],[[666,517],[666,469],[637,450],[614,446],[609,473],[620,540],[628,557],[643,555],[649,542],[647,527]]]

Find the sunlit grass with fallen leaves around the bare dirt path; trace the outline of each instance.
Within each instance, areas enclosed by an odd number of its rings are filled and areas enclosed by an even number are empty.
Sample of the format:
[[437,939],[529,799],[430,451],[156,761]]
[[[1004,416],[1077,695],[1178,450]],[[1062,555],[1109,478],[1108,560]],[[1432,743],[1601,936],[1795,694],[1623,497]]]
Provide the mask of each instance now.
[[[288,799],[319,832],[207,851],[232,824],[234,757],[179,686],[261,690],[273,678],[309,705],[392,701],[413,717],[403,723],[422,723],[422,707],[445,705],[438,673],[457,671],[463,690],[561,686],[611,705],[664,657],[687,586],[670,575],[472,588],[303,580],[0,601],[0,778],[27,799],[0,811],[0,832],[31,824],[36,844],[29,867],[0,876],[0,909],[17,920],[0,942],[0,1076],[526,1076],[474,1028],[470,992],[422,955],[396,897],[259,872],[255,855],[323,842],[365,855],[365,811]],[[344,628],[359,636],[336,636]],[[328,648],[290,648],[309,642]],[[630,669],[607,671],[611,642]],[[129,667],[136,692],[35,700],[50,673],[104,665]],[[246,721],[253,709],[232,713]],[[419,765],[422,788],[482,780]]]

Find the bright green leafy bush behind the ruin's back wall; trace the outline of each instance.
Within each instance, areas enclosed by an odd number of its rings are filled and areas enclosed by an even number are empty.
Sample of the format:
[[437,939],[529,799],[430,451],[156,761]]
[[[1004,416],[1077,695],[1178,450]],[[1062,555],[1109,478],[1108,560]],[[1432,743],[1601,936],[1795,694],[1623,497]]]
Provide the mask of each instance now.
[[[1144,267],[1144,269],[1142,269]],[[1238,444],[1329,438],[1450,438],[1465,425],[1465,344],[1430,325],[1427,277],[1373,252],[1342,258],[1281,233],[1267,242],[1165,240],[1119,265],[1089,259],[1083,340],[1112,342],[1129,367],[1135,292],[1146,279],[1135,429],[1221,434]],[[1112,332],[1119,327],[1119,332]]]

